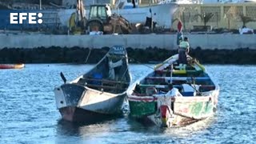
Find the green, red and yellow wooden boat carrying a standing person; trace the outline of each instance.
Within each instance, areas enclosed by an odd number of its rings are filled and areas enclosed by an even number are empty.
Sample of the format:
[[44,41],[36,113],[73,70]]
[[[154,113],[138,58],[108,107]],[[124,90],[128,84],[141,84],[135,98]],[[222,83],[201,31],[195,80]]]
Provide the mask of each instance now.
[[[187,56],[186,69],[178,66],[178,54],[155,66],[154,72],[130,86],[130,116],[157,126],[184,126],[214,114],[219,86],[204,66]],[[168,86],[177,90],[168,95]],[[150,121],[148,121],[150,120]]]

